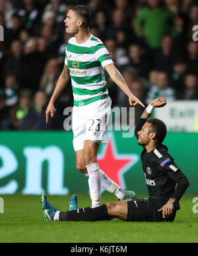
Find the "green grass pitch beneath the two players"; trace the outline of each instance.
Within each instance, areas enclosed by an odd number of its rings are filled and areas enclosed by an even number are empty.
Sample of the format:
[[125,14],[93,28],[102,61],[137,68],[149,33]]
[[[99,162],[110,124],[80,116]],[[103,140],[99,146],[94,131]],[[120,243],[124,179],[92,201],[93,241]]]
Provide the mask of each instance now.
[[[69,196],[48,196],[59,210],[69,210]],[[193,214],[193,197],[184,196],[181,210],[173,223],[123,222],[44,222],[40,196],[20,194],[1,196],[4,214],[0,214],[1,242],[131,243],[198,242],[198,214]],[[145,195],[139,195],[139,198]],[[79,207],[90,206],[88,195],[79,194]],[[147,196],[146,196],[147,198]],[[102,202],[116,197],[102,194]]]

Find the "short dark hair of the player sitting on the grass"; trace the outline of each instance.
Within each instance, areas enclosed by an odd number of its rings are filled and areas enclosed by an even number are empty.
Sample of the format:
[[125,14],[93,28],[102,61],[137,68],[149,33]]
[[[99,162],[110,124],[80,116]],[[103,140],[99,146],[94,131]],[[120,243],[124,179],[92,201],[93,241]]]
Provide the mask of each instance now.
[[151,124],[153,132],[156,134],[156,139],[158,140],[158,143],[161,144],[167,134],[166,124],[157,118],[148,118],[147,122]]

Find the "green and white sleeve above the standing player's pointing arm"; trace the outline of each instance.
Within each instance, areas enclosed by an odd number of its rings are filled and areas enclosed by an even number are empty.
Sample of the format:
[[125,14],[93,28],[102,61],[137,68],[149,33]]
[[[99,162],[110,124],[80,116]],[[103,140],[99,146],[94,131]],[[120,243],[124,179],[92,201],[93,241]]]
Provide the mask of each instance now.
[[102,67],[105,67],[106,65],[114,64],[112,57],[110,56],[110,53],[108,52],[104,44],[98,44],[98,46],[96,46],[95,56],[96,56],[96,59],[102,65]]

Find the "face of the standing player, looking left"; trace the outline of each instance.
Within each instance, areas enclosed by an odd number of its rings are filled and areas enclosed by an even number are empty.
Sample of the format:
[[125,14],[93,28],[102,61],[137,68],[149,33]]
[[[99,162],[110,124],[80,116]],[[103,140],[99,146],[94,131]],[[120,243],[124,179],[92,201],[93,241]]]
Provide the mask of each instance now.
[[79,32],[79,15],[72,10],[69,10],[65,19],[65,32],[68,34],[77,34]]

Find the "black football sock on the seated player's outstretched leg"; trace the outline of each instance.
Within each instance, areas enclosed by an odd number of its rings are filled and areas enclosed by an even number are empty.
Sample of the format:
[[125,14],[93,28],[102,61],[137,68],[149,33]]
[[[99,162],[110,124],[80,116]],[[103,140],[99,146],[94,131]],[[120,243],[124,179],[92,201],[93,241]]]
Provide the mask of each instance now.
[[81,208],[71,210],[69,212],[60,212],[59,221],[73,221],[73,222],[95,222],[97,220],[108,220],[108,210],[106,204],[96,208]]

